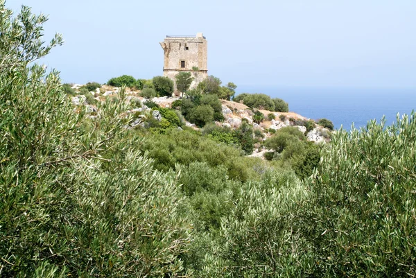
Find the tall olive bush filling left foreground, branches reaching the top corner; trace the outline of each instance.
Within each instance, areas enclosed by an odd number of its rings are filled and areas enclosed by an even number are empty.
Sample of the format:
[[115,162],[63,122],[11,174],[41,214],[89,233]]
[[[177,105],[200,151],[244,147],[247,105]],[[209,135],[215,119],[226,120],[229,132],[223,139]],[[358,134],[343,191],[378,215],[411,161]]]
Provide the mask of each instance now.
[[8,25],[0,10],[1,276],[185,275],[182,194],[123,128],[125,100],[108,99],[96,119],[73,112],[58,73],[32,64],[62,39],[44,47],[46,17],[23,7]]

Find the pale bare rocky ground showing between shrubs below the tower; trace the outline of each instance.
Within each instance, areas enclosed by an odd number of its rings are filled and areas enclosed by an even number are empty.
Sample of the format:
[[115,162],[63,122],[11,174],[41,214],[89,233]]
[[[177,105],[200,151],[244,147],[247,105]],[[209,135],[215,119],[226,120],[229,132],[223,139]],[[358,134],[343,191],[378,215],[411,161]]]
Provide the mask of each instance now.
[[[80,92],[80,89],[83,88],[83,86],[85,85],[76,84],[71,86],[75,92],[75,96],[72,97],[72,103],[74,105],[85,105],[90,112],[96,112],[96,105],[94,105],[94,103],[88,103],[85,92],[84,94]],[[121,87],[102,85],[88,94],[94,97],[95,101],[103,102],[107,97],[117,97],[120,91]],[[136,107],[128,111],[130,113],[141,113],[143,115],[141,116],[141,120],[144,119],[144,114],[146,114],[146,112],[151,111],[151,107],[148,107],[144,103],[156,103],[159,107],[172,108],[172,104],[175,103],[175,101],[180,101],[185,98],[180,96],[144,98],[141,90],[129,87],[125,87],[124,94],[127,103],[141,103],[141,107]],[[221,121],[214,121],[216,125],[236,129],[241,126],[243,121],[246,121],[252,125],[254,130],[259,130],[263,133],[263,141],[270,138],[277,130],[288,126],[298,128],[301,132],[304,132],[309,141],[314,141],[316,143],[327,142],[331,136],[331,130],[324,128],[322,125],[315,123],[315,121],[295,112],[275,112],[263,109],[253,109],[242,102],[227,101],[225,99],[220,99],[220,103],[223,119],[221,119]],[[261,121],[256,122],[253,119],[254,112],[256,111],[263,114],[263,119]],[[308,123],[312,123],[313,127],[311,128]],[[184,121],[184,124],[195,130],[200,130],[196,124],[190,123],[189,121]],[[264,152],[261,148],[256,148],[255,153],[261,151]]]

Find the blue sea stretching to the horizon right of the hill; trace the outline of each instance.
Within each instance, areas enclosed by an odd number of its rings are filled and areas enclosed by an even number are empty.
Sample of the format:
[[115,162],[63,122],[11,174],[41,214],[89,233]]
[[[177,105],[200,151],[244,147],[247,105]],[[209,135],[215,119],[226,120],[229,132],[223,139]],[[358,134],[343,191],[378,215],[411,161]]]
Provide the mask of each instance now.
[[237,92],[283,98],[291,112],[315,120],[327,118],[335,128],[342,125],[345,130],[350,130],[352,123],[360,128],[372,119],[380,121],[383,116],[390,125],[396,121],[397,113],[410,114],[416,110],[416,88],[240,87]]

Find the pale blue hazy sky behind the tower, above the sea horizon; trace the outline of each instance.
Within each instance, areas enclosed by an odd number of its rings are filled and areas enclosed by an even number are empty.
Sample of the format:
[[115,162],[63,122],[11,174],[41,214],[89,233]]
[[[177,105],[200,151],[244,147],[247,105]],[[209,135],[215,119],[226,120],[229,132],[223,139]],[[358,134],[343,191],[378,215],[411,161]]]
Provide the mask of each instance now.
[[239,87],[416,87],[415,0],[8,0],[49,15],[44,61],[64,82],[162,75],[165,35],[208,40],[208,73]]

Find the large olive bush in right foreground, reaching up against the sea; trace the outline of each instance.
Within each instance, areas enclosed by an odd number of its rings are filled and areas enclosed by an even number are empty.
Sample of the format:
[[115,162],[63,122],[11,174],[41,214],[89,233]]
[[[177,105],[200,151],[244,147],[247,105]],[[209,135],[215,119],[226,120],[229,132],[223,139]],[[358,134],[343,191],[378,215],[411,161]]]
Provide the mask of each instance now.
[[390,127],[370,121],[360,131],[333,134],[300,220],[301,236],[316,247],[311,275],[416,271],[416,157],[408,155],[416,149],[415,119],[413,112]]

